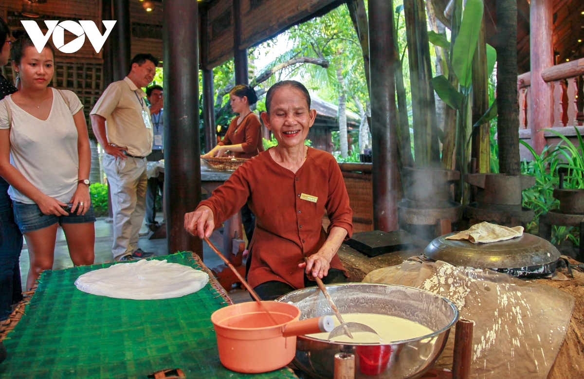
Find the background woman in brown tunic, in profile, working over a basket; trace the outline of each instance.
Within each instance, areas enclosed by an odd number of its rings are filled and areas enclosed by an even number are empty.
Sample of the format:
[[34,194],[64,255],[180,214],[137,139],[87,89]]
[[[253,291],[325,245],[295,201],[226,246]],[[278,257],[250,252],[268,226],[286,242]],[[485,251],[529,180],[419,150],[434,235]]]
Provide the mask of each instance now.
[[239,116],[231,120],[223,140],[203,155],[204,158],[221,157],[225,151],[234,152],[235,158],[252,158],[263,151],[262,125],[258,116],[249,109],[258,102],[255,91],[243,84],[236,85],[229,92],[229,100],[231,109]]

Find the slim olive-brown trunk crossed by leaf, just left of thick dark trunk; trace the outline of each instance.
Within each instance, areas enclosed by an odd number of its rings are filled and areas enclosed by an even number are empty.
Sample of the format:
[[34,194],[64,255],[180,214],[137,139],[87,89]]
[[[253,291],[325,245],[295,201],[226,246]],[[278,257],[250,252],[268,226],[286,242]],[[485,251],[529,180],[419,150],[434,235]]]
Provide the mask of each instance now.
[[[472,125],[489,109],[489,73],[486,72],[485,16],[482,18],[477,50],[472,57]],[[489,172],[491,168],[491,145],[489,127],[484,123],[472,128],[471,157],[477,159],[478,172]]]

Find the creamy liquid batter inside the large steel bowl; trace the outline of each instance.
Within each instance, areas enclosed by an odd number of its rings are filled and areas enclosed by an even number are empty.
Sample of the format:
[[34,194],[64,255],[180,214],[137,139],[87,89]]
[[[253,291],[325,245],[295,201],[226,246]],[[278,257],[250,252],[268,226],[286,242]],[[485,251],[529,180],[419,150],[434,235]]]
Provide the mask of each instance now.
[[[339,320],[336,317],[333,317],[333,319],[335,320],[335,327],[339,326]],[[432,329],[418,324],[418,322],[395,316],[373,313],[348,313],[343,314],[343,319],[345,322],[359,322],[370,326],[379,336],[370,332],[355,332],[351,333],[353,339],[343,334],[333,338],[332,341],[348,343],[391,343],[422,337],[434,332]],[[314,333],[307,336],[328,340],[328,335],[329,333]]]

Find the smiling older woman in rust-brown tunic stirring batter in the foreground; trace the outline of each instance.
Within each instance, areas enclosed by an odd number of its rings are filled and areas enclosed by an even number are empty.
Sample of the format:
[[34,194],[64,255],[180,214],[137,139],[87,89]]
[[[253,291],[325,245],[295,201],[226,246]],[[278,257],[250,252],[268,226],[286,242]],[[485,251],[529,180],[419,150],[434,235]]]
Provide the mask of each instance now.
[[[273,300],[313,285],[315,276],[326,284],[345,281],[336,252],[353,232],[353,211],[335,158],[304,145],[316,117],[306,88],[296,81],[273,85],[266,110],[262,119],[278,145],[239,166],[208,200],[185,215],[185,228],[208,237],[247,202],[256,215],[249,284],[264,300]],[[326,232],[325,210],[331,220]]]

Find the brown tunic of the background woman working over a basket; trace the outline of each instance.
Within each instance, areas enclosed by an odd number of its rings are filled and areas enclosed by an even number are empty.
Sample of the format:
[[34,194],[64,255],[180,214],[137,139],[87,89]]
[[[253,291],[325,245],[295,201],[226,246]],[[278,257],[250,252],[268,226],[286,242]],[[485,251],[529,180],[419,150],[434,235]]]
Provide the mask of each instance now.
[[235,152],[235,158],[252,158],[263,151],[262,144],[262,124],[259,123],[258,116],[255,113],[249,113],[238,125],[238,117],[234,117],[227,128],[225,137],[218,145],[238,145],[244,149],[243,152]]

